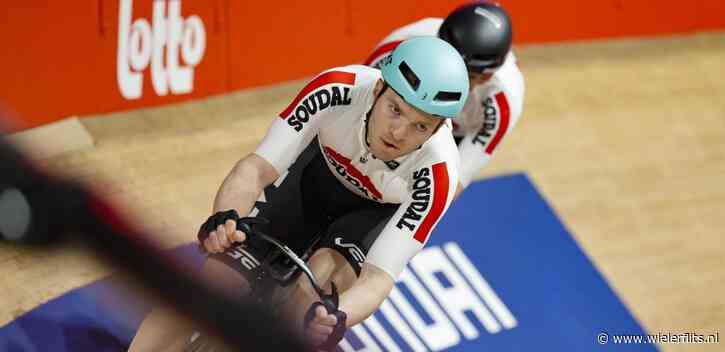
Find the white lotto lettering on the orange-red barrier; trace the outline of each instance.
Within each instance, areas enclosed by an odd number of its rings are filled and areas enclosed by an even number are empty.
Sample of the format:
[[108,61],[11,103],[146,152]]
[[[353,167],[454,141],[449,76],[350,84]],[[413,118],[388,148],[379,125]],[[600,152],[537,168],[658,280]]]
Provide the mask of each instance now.
[[[196,15],[181,17],[181,0],[153,2],[153,20],[132,20],[133,0],[121,0],[118,15],[116,78],[129,100],[143,94],[143,72],[151,65],[151,84],[159,96],[190,93],[194,67],[206,49],[206,31]],[[181,58],[181,60],[179,60]]]

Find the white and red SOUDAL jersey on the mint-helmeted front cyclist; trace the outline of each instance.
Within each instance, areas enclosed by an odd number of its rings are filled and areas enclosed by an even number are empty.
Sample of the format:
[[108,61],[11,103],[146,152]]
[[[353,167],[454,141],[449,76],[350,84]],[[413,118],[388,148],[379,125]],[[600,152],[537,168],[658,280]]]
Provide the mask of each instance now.
[[388,162],[376,159],[365,133],[379,79],[379,70],[362,65],[321,73],[279,114],[255,153],[283,175],[317,137],[327,166],[348,190],[400,204],[366,259],[395,279],[452,201],[458,151],[450,127],[443,124],[412,153]]

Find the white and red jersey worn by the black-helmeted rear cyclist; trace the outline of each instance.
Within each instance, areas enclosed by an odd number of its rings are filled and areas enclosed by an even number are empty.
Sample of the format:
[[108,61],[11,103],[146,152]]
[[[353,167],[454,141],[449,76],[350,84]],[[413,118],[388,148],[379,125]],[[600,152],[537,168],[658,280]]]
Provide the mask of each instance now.
[[[365,65],[377,67],[405,39],[437,36],[442,23],[442,18],[425,18],[395,30],[380,42]],[[503,137],[516,125],[523,104],[524,78],[516,65],[516,56],[509,52],[493,77],[468,95],[463,111],[453,122],[453,135],[463,138],[458,152],[459,179],[464,187],[488,163]]]

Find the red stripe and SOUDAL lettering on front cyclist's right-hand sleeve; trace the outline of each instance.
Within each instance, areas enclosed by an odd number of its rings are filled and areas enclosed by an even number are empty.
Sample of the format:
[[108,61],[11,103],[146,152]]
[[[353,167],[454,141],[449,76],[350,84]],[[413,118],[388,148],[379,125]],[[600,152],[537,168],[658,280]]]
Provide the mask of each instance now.
[[413,237],[424,243],[446,206],[448,183],[448,169],[443,162],[414,171],[411,201],[396,226],[409,231],[417,226]]

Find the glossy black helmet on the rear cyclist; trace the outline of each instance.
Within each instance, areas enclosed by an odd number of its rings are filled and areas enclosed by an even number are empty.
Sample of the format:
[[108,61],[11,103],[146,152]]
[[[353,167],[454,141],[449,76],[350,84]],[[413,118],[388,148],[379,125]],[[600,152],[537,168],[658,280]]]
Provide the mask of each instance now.
[[458,50],[469,71],[490,71],[511,49],[511,19],[498,4],[474,2],[451,12],[438,36]]

